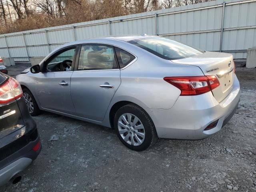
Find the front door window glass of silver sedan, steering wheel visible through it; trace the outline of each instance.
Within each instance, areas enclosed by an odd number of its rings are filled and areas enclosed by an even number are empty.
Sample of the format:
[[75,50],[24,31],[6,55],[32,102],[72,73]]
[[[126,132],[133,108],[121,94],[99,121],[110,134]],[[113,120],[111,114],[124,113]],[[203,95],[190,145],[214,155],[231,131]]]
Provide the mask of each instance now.
[[76,48],[70,48],[68,50],[62,50],[54,58],[52,58],[46,64],[46,71],[58,72],[58,71],[70,71],[72,62],[76,53]]

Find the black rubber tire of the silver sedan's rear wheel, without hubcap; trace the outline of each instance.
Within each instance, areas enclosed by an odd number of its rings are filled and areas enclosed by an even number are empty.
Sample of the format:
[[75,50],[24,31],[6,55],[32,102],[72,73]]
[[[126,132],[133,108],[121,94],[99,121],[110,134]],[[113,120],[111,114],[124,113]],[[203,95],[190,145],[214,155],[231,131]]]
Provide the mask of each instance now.
[[[125,113],[130,113],[130,114],[133,114],[136,117],[138,117],[144,126],[145,138],[144,138],[144,141],[142,142],[142,144],[140,144],[139,146],[133,146],[131,144],[128,144],[122,138],[122,136],[119,134],[118,119],[122,114],[125,114]],[[146,150],[146,148],[152,146],[158,140],[156,129],[154,127],[154,124],[153,124],[151,118],[148,116],[148,114],[142,108],[140,108],[139,106],[136,106],[134,104],[128,104],[128,105],[122,106],[121,108],[118,109],[118,111],[116,112],[116,114],[114,116],[114,129],[115,129],[116,134],[117,134],[118,138],[120,139],[120,141],[131,150],[135,150],[135,151]]]

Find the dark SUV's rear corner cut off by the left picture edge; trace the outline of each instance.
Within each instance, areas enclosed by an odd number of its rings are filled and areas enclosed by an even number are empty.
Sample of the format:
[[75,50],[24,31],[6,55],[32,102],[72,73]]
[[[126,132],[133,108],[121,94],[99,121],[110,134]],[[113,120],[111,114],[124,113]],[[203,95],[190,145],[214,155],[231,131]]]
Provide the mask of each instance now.
[[0,186],[24,170],[40,151],[36,122],[28,112],[20,84],[0,72]]

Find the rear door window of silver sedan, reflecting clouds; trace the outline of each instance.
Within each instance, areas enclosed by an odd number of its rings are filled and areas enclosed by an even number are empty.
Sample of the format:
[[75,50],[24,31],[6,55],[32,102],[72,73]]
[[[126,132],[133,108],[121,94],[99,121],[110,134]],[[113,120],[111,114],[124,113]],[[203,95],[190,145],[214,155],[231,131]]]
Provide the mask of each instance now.
[[112,47],[83,45],[81,47],[78,70],[100,70],[118,68]]

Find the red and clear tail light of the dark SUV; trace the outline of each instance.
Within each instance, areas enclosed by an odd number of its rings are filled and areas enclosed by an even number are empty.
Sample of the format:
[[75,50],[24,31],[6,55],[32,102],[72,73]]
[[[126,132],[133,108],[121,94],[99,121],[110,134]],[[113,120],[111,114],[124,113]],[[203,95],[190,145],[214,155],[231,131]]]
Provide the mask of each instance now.
[[20,84],[12,77],[0,86],[0,104],[20,98],[22,95]]

